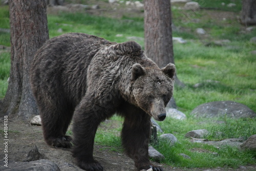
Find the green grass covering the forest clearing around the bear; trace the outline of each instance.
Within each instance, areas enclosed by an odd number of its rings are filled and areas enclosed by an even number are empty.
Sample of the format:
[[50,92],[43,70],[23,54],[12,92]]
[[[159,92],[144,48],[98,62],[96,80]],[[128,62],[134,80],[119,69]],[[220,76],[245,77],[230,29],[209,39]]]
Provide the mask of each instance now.
[[[87,3],[87,1],[80,1]],[[236,7],[228,8],[223,1],[200,1],[202,7],[219,8],[218,12],[233,12],[239,15],[241,1],[234,0]],[[212,10],[211,10],[212,11]],[[187,39],[186,44],[174,43],[174,55],[177,74],[186,85],[181,89],[175,87],[174,97],[179,110],[186,114],[187,120],[167,118],[159,122],[164,133],[174,134],[179,143],[170,147],[163,141],[154,144],[154,147],[165,156],[163,163],[174,167],[238,167],[239,165],[255,164],[255,153],[240,151],[237,148],[223,146],[216,148],[212,145],[191,143],[184,135],[191,130],[206,129],[209,140],[222,140],[226,138],[243,138],[256,134],[256,119],[196,119],[190,112],[198,105],[220,100],[233,100],[247,105],[256,111],[256,60],[250,51],[256,49],[256,44],[249,39],[256,35],[256,29],[244,32],[236,19],[218,20],[210,17],[207,10],[181,11],[173,8],[173,23],[179,30],[173,31],[173,36]],[[196,19],[196,20],[195,20]],[[198,19],[198,20],[197,20]],[[196,21],[196,22],[195,22]],[[143,18],[123,16],[120,19],[103,16],[93,16],[84,13],[59,13],[48,15],[50,37],[68,32],[83,32],[103,37],[110,41],[127,41],[129,36],[143,37]],[[9,15],[7,7],[0,7],[0,28],[9,28]],[[62,29],[62,33],[58,29]],[[196,28],[204,28],[207,36],[195,34]],[[121,34],[121,37],[117,37]],[[205,46],[207,42],[219,39],[229,39],[230,42],[222,47]],[[144,47],[143,40],[138,43]],[[0,45],[10,46],[10,34],[0,32]],[[5,96],[7,78],[10,69],[10,53],[0,52],[0,98]],[[215,80],[218,82],[207,82]],[[203,83],[201,87],[194,88],[194,84]],[[121,151],[120,131],[122,119],[114,116],[99,127],[95,143],[102,148],[112,151]],[[107,131],[106,131],[107,130]],[[222,132],[222,134],[216,134]],[[68,132],[68,135],[72,134]],[[195,149],[203,149],[199,153]],[[212,153],[218,153],[214,155]],[[191,157],[184,159],[179,154]]]

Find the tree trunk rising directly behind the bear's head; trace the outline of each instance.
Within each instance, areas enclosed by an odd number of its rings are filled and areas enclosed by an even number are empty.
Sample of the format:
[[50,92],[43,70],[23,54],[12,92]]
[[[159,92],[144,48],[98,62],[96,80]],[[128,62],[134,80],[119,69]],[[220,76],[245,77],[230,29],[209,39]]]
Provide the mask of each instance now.
[[[144,1],[145,53],[160,68],[174,62],[172,15],[169,0]],[[175,74],[175,83],[184,87]]]

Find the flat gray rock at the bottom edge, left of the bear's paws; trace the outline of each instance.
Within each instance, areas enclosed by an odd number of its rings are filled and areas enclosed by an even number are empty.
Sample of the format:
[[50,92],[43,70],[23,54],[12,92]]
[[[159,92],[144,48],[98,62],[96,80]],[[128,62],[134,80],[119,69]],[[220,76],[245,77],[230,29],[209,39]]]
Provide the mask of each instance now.
[[37,170],[37,171],[60,171],[57,164],[49,161],[49,160],[36,160],[30,162],[15,162],[9,163],[7,171],[29,171],[29,170]]

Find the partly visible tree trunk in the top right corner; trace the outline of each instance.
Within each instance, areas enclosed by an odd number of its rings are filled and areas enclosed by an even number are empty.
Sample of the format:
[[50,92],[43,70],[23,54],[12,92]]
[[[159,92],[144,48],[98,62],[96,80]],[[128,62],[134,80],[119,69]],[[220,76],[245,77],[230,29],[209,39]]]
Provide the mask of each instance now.
[[243,25],[256,25],[256,1],[243,0],[241,23]]

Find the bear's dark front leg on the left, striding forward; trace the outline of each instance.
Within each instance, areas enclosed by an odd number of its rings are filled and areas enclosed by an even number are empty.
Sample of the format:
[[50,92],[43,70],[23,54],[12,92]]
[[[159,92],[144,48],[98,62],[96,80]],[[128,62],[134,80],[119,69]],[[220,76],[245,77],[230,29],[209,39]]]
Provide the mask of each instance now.
[[75,110],[73,156],[80,168],[90,171],[101,171],[103,167],[93,159],[93,145],[97,127],[105,118],[100,113],[102,110],[95,108],[91,102],[81,102]]

